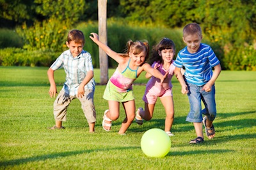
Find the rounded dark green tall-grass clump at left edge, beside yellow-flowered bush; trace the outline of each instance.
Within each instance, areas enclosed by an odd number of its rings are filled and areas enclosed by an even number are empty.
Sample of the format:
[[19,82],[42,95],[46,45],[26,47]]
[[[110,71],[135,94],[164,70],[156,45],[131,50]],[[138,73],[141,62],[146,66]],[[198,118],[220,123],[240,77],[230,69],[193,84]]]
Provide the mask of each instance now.
[[17,32],[10,29],[0,29],[0,49],[6,47],[21,48],[22,46],[22,39]]

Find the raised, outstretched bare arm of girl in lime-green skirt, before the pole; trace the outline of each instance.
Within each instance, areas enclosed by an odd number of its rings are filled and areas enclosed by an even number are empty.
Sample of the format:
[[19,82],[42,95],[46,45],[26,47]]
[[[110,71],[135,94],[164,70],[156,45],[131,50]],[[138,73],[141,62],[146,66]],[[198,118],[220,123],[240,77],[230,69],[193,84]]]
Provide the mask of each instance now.
[[94,43],[96,43],[100,48],[102,48],[102,50],[104,50],[104,52],[106,52],[109,57],[116,60],[116,62],[118,62],[118,63],[124,62],[124,59],[123,59],[124,57],[121,57],[120,54],[111,50],[111,48],[109,48],[108,45],[105,45],[104,43],[99,41],[98,34],[96,34],[95,32],[92,32],[91,34],[92,34],[92,36],[90,36],[90,39],[92,39],[92,41]]

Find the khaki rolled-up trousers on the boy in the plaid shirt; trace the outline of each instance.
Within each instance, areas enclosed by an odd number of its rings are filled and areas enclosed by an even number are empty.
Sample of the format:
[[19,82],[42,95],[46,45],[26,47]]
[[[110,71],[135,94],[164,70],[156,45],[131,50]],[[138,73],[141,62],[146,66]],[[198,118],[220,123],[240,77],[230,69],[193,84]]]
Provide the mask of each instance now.
[[76,97],[76,96],[70,96],[69,94],[66,94],[64,90],[60,91],[60,94],[58,94],[56,100],[53,104],[53,114],[55,120],[58,121],[66,121],[67,120],[67,108],[68,105],[71,103],[74,99],[79,99],[81,102],[81,108],[84,112],[84,116],[87,119],[88,123],[96,122],[96,111],[95,106],[93,104],[93,96],[94,91],[93,90],[84,90],[84,97]]

